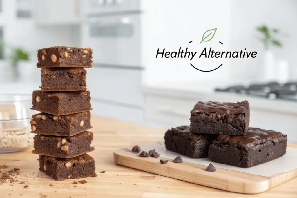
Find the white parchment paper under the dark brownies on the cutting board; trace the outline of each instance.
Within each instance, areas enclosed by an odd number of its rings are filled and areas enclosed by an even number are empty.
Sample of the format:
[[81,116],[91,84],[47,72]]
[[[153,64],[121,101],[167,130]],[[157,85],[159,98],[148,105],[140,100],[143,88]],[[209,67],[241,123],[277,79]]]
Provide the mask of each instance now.
[[200,164],[204,166],[208,166],[209,163],[212,163],[214,167],[217,167],[217,168],[235,170],[239,172],[245,172],[245,173],[261,175],[266,177],[274,174],[278,174],[278,173],[288,172],[290,170],[297,168],[297,148],[290,148],[290,147],[287,147],[287,153],[278,159],[268,161],[264,164],[259,164],[254,167],[240,168],[240,167],[230,166],[226,164],[215,163],[210,161],[208,158],[198,158],[198,159],[190,158],[188,156],[185,156],[179,153],[168,151],[165,148],[164,142],[161,142],[161,141],[139,145],[139,146],[142,151],[147,151],[147,152],[149,150],[156,149],[156,151],[160,153],[160,157],[159,157],[160,159],[161,157],[168,158],[168,159],[175,159],[176,156],[181,156],[181,158],[185,162]]

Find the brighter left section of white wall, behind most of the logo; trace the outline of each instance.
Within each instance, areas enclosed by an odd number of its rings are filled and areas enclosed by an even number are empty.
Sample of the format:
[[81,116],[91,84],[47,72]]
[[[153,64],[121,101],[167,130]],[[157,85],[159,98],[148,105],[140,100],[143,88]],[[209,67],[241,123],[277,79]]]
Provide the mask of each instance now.
[[[228,79],[228,60],[199,59],[195,56],[194,65],[199,69],[214,69],[221,63],[222,68],[214,72],[199,72],[190,66],[188,59],[155,58],[158,48],[168,51],[179,47],[190,47],[193,51],[202,52],[204,47],[216,47],[217,50],[228,50],[230,44],[230,1],[210,0],[162,0],[141,1],[143,15],[141,20],[142,62],[146,71],[143,74],[144,84],[159,81],[199,81]],[[199,44],[203,33],[217,28],[211,42]],[[188,42],[193,40],[191,44]],[[219,44],[219,41],[224,45]]]

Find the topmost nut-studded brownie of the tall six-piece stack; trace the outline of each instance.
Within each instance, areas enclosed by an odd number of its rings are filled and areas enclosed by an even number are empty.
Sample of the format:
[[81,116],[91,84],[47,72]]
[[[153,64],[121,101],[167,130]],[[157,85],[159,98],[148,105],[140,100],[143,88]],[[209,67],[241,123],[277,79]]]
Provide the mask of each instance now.
[[92,67],[92,49],[55,46],[37,50],[37,67]]

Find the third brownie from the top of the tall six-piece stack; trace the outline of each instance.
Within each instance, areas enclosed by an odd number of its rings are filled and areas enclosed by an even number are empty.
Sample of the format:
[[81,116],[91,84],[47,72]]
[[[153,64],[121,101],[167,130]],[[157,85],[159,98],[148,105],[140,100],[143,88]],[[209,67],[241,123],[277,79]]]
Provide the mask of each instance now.
[[33,91],[33,110],[53,115],[68,115],[90,111],[91,96],[89,91],[44,92]]

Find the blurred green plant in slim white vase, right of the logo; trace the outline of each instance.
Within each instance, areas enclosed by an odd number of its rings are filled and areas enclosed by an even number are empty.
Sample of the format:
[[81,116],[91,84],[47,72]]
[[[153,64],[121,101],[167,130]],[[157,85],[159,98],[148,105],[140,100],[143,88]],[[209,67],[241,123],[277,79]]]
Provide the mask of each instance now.
[[287,37],[287,35],[278,28],[268,28],[266,25],[258,26],[256,30],[261,34],[258,40],[264,45],[263,63],[261,63],[264,68],[262,80],[274,80],[275,60],[271,47],[281,48],[282,42],[279,37]]

